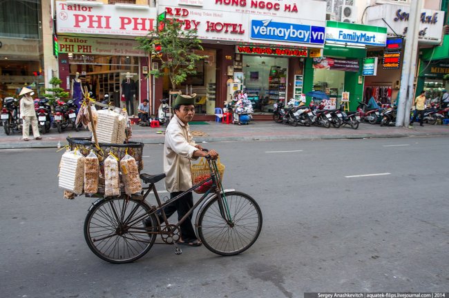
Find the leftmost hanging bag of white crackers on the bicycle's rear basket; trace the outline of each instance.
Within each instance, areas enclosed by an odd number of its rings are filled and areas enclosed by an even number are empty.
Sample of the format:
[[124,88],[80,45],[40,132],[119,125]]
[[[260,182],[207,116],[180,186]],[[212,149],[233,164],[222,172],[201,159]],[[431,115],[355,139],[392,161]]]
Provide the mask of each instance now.
[[83,193],[84,156],[77,150],[67,151],[59,163],[59,187],[75,195]]

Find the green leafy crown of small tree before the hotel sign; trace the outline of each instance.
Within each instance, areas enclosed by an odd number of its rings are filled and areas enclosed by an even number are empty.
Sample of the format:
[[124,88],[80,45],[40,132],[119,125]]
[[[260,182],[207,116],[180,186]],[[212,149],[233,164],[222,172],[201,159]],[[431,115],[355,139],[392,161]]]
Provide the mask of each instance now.
[[137,48],[160,61],[160,68],[151,70],[149,74],[168,76],[175,90],[189,75],[196,74],[195,62],[204,59],[204,56],[195,54],[195,50],[203,48],[195,30],[183,30],[182,21],[165,17],[160,14],[157,28],[149,31],[146,37],[137,37]]

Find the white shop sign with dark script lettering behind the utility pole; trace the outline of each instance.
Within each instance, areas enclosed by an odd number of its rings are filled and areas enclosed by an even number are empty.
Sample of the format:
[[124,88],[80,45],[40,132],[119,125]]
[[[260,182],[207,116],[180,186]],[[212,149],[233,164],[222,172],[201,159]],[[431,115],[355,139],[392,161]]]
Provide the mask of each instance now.
[[[367,22],[374,26],[385,26],[383,21],[390,25],[388,36],[396,37],[396,34],[407,38],[410,8],[394,4],[373,6],[367,10]],[[441,32],[444,25],[444,12],[441,10],[422,9],[419,15],[418,41],[421,44],[441,43]]]

